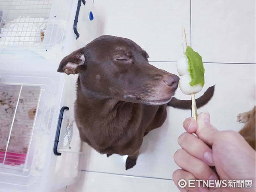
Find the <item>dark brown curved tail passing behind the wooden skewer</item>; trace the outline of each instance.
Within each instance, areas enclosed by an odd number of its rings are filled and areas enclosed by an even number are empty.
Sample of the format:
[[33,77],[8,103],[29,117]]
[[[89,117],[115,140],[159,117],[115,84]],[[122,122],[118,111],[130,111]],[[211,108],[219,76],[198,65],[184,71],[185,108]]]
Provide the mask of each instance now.
[[[206,92],[203,93],[198,99],[196,99],[197,108],[206,105],[213,96],[215,85],[209,87]],[[168,106],[178,108],[178,109],[191,109],[192,102],[191,100],[179,100],[173,97],[170,102],[168,102]]]

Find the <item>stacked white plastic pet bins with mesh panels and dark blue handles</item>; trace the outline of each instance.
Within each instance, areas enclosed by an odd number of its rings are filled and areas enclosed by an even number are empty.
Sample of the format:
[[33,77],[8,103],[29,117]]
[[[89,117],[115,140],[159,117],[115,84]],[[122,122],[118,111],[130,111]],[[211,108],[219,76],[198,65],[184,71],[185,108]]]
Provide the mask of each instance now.
[[61,58],[99,36],[93,0],[0,0],[0,191],[74,183],[76,76]]

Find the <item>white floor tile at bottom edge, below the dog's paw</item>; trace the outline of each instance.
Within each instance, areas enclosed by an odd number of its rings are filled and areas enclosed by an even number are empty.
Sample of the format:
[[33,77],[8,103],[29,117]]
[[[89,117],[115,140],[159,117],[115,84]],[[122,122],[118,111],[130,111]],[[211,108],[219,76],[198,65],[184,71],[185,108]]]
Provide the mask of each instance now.
[[83,172],[67,192],[179,192],[173,180]]

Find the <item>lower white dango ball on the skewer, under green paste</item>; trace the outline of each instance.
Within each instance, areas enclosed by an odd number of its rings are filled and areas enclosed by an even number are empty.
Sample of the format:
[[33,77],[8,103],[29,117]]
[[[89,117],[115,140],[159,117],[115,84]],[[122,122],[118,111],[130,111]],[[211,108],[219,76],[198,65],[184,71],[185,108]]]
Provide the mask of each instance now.
[[191,86],[189,83],[191,82],[191,77],[189,73],[181,76],[179,78],[179,88],[185,95],[190,95],[191,93],[200,92],[203,87],[200,84]]

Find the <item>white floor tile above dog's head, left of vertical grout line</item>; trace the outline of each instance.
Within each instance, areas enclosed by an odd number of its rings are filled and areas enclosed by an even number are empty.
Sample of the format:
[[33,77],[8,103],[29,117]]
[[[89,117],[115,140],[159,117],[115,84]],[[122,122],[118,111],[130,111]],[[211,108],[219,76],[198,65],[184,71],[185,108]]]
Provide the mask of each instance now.
[[107,35],[132,39],[150,61],[177,61],[182,54],[182,26],[190,42],[189,0],[95,0],[105,17]]

